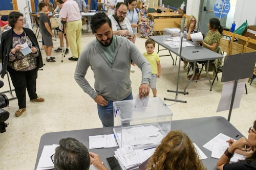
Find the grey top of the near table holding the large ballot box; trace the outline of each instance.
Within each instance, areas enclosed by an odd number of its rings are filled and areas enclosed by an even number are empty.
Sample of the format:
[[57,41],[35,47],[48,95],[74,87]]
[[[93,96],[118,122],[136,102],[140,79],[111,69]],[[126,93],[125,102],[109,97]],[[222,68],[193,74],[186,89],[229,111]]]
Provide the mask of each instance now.
[[[207,159],[202,160],[204,166],[208,170],[217,169],[216,163],[218,159],[211,158],[211,152],[202,147],[205,143],[217,136],[219,133],[223,133],[230,137],[239,135],[240,138],[243,136],[224,117],[221,116],[174,120],[172,122],[172,130],[181,130],[182,132],[185,132],[189,138],[198,145],[198,147],[208,157]],[[52,132],[42,135],[38,148],[35,169],[44,145],[58,144],[61,138],[73,137],[89,148],[89,136],[102,134],[113,134],[113,127]],[[108,149],[92,149],[90,152],[99,154],[103,164],[109,168],[106,158],[114,156],[114,151],[116,151],[116,149],[117,147]]]

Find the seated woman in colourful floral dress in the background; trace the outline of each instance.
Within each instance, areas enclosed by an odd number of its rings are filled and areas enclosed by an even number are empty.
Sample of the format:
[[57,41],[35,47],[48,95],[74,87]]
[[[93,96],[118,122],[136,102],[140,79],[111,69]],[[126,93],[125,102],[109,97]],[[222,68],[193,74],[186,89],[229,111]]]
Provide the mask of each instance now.
[[147,18],[147,9],[142,4],[142,1],[137,1],[137,8],[139,9],[141,27],[139,28],[140,37],[148,39],[149,36],[154,35],[154,22]]

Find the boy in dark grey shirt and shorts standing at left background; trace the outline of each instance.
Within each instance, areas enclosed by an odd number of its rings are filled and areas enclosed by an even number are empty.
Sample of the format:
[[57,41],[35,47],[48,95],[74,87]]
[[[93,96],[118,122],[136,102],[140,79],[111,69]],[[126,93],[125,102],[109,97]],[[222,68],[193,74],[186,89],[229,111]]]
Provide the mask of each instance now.
[[38,8],[41,11],[39,16],[39,23],[40,23],[40,32],[45,42],[45,52],[47,57],[46,61],[56,62],[54,60],[55,57],[51,57],[52,47],[53,47],[52,37],[54,36],[54,34],[52,33],[50,19],[46,15],[46,13],[48,13],[48,6],[47,4],[41,2],[38,4]]

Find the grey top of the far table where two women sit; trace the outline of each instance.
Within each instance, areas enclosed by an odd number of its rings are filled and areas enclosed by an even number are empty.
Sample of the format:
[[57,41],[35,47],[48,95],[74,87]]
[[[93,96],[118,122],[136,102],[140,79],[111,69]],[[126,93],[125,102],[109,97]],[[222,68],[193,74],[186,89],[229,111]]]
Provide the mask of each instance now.
[[[167,50],[173,52],[176,55],[179,55],[178,54],[179,48],[171,48],[168,45],[163,43],[163,36],[161,35],[151,36],[150,38],[155,40],[161,46],[165,47]],[[202,47],[191,41],[187,41],[187,42],[195,45],[195,46],[186,46],[182,48],[181,57],[189,62],[215,60],[215,59],[223,58],[222,55],[216,52],[213,52],[205,47]]]

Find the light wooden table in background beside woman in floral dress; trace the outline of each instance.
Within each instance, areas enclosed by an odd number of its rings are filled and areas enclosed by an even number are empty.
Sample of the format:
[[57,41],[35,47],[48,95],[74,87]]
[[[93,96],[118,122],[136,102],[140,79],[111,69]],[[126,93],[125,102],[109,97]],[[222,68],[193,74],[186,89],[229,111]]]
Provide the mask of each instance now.
[[148,13],[148,17],[152,18],[155,23],[154,31],[157,31],[162,35],[161,31],[163,31],[164,28],[180,28],[183,15],[176,14],[175,12],[153,12]]

